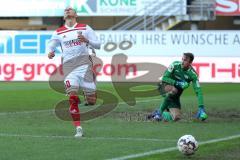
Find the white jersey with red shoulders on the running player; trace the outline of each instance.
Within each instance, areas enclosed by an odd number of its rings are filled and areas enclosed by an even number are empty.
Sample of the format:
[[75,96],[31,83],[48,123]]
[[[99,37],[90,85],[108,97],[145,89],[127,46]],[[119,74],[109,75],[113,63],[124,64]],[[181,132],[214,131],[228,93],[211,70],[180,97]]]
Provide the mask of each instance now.
[[[78,39],[79,34],[88,39],[89,44],[81,43]],[[101,44],[90,26],[76,23],[72,27],[64,25],[53,33],[48,43],[48,52],[55,51],[59,45],[62,49],[64,63],[79,55],[88,55],[88,45],[91,45],[95,49],[100,49]]]

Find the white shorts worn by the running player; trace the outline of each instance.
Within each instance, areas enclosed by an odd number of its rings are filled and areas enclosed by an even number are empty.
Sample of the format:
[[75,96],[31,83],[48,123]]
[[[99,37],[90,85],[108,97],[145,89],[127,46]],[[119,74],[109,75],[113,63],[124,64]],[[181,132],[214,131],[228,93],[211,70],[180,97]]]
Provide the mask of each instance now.
[[67,94],[79,88],[83,89],[85,95],[91,95],[96,92],[95,77],[92,66],[82,65],[73,69],[64,79]]

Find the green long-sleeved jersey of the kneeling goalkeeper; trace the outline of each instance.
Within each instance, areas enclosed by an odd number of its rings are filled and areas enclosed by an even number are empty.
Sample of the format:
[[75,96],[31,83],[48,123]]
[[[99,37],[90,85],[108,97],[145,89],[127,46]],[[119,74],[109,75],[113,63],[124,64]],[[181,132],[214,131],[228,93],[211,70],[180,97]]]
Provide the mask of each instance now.
[[185,81],[188,84],[192,82],[193,89],[198,97],[198,104],[203,105],[203,95],[198,81],[198,75],[192,67],[188,70],[183,70],[182,62],[175,61],[165,71],[162,81],[173,86],[176,84],[176,81]]

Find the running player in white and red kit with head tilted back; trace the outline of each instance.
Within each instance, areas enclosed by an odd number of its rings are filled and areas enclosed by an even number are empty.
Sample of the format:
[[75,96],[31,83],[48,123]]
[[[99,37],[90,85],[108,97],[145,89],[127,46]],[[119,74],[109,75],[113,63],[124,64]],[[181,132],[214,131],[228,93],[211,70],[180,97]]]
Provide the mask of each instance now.
[[83,89],[88,105],[96,103],[95,78],[88,50],[89,46],[100,49],[101,44],[93,29],[86,24],[77,23],[76,19],[76,10],[67,7],[64,10],[65,25],[58,28],[49,41],[48,58],[52,59],[55,56],[56,47],[61,47],[64,84],[69,95],[69,111],[76,127],[75,137],[82,137],[78,90]]

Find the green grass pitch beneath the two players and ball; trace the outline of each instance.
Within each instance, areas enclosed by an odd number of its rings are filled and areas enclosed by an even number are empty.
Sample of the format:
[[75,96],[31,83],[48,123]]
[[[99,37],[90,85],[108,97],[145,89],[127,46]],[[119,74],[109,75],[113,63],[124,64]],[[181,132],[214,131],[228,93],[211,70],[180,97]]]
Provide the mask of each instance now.
[[[116,95],[108,83],[98,83],[98,88]],[[197,98],[190,87],[182,95],[184,118],[180,122],[145,120],[159,106],[160,96],[138,98],[135,106],[120,99],[111,113],[83,122],[85,137],[75,139],[71,122],[58,119],[53,112],[60,100],[67,100],[64,94],[46,82],[0,82],[0,159],[120,160],[132,155],[141,155],[133,158],[140,160],[239,159],[240,138],[200,145],[191,157],[174,149],[167,151],[184,134],[192,134],[200,143],[240,135],[240,85],[202,84],[202,89],[209,114],[206,122],[192,118]],[[143,156],[156,150],[160,152]]]

